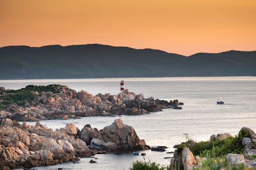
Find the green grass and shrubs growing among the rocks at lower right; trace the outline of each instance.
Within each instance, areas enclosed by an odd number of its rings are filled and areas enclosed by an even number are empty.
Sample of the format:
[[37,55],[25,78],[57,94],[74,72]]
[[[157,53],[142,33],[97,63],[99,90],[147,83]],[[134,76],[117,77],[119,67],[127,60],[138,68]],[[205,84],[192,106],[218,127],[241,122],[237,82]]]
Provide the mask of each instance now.
[[242,154],[243,153],[243,143],[244,137],[249,137],[248,131],[242,130],[234,138],[230,137],[224,140],[215,141],[201,141],[194,142],[188,140],[180,145],[176,145],[177,154],[175,155],[178,164],[176,169],[184,169],[181,163],[182,150],[188,147],[189,150],[195,155],[203,158],[202,165],[195,169],[211,169],[217,170],[223,169],[245,169],[244,165],[231,166],[230,163],[226,161],[226,156],[228,153]]

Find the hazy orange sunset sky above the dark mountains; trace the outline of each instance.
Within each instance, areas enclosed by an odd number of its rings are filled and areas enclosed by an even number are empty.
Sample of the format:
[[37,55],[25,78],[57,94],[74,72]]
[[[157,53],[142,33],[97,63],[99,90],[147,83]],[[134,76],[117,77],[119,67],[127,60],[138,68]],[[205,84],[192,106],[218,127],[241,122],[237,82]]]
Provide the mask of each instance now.
[[0,0],[0,46],[100,43],[191,55],[256,50],[255,0]]

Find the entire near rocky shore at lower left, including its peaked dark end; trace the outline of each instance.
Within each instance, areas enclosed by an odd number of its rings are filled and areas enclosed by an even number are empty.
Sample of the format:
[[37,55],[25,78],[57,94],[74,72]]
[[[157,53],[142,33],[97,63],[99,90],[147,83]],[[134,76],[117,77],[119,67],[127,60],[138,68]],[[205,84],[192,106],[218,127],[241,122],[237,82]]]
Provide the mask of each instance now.
[[148,150],[135,129],[121,119],[103,128],[90,125],[79,130],[71,123],[65,128],[48,129],[39,122],[20,125],[9,118],[0,119],[0,169],[30,168],[76,162],[79,157],[97,153]]

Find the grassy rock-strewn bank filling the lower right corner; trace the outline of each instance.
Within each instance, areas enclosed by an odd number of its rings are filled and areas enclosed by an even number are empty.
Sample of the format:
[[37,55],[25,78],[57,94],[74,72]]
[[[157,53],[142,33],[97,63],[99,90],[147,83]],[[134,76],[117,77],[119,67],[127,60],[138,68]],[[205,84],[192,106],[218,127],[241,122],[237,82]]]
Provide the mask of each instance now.
[[174,148],[176,150],[170,161],[170,170],[216,169],[217,167],[219,169],[256,169],[256,134],[250,128],[243,127],[237,136],[228,133],[214,134],[210,136],[210,141],[188,140],[175,145]]

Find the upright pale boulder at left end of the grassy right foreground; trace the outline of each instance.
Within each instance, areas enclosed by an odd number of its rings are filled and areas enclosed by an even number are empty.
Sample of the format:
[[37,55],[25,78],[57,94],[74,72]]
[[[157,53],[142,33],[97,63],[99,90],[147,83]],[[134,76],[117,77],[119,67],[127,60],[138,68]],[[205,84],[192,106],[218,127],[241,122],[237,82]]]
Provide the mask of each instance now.
[[197,164],[193,153],[187,147],[182,150],[182,163],[185,170],[193,169]]

